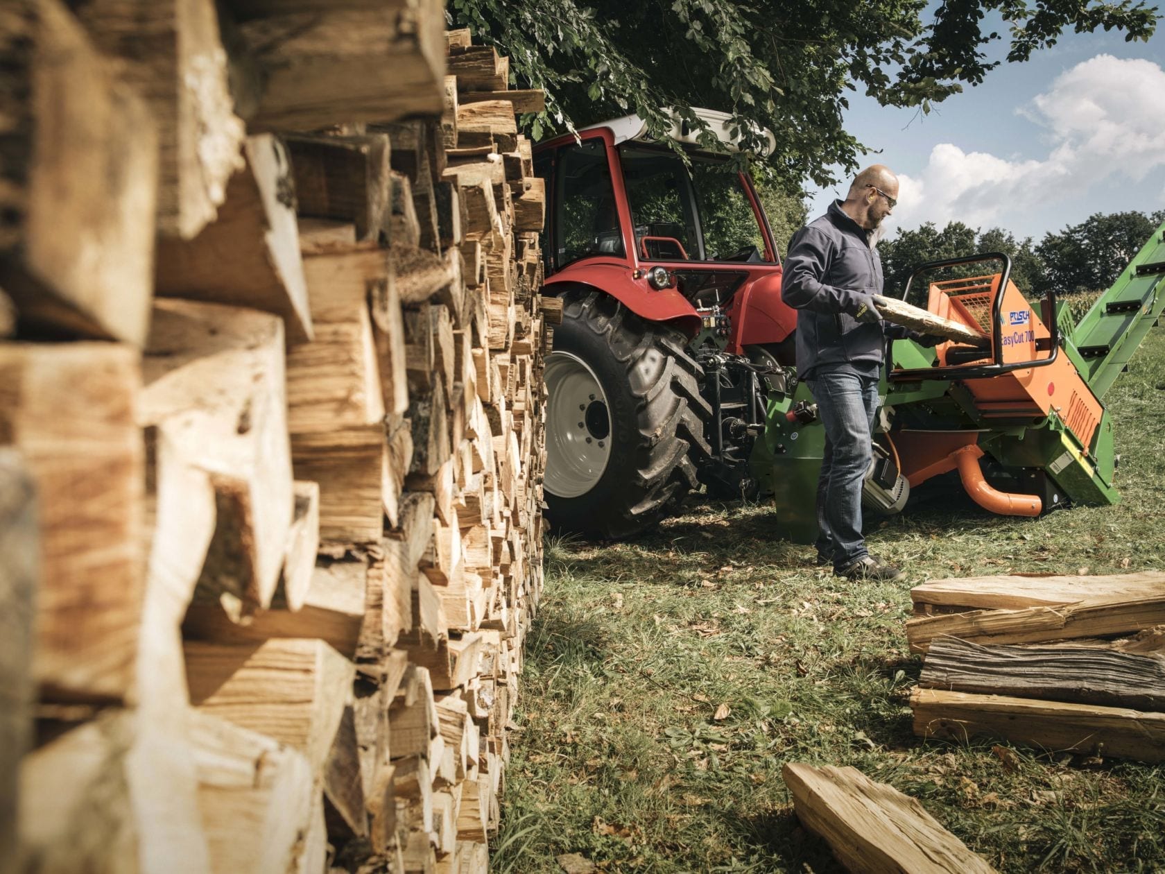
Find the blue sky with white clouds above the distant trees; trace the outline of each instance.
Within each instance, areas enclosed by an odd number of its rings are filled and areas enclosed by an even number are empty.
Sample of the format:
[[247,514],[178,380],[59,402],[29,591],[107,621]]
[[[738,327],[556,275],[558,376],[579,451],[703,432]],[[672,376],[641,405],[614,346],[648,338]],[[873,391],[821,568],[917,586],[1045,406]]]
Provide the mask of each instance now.
[[[854,93],[846,124],[881,153],[863,164],[899,176],[891,239],[897,226],[960,220],[1038,242],[1095,212],[1165,209],[1165,22],[1148,43],[1066,34],[929,115]],[[811,191],[810,217],[847,185]]]

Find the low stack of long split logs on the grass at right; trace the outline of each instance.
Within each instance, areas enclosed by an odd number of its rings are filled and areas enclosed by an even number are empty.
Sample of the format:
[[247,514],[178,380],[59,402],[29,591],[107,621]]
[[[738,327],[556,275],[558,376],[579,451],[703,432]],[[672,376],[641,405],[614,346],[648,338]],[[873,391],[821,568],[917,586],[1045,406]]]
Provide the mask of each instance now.
[[934,580],[911,597],[917,734],[1165,761],[1165,573]]

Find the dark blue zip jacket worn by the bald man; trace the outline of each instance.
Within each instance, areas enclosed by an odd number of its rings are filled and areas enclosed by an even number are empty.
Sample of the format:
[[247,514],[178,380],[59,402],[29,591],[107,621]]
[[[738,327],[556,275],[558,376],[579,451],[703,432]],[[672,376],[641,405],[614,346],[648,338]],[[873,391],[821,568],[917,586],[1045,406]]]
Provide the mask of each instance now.
[[853,313],[864,295],[882,294],[882,259],[869,235],[834,200],[820,218],[793,234],[784,261],[781,296],[797,310],[797,374],[820,367],[882,365],[885,338],[906,338],[885,322],[861,323]]

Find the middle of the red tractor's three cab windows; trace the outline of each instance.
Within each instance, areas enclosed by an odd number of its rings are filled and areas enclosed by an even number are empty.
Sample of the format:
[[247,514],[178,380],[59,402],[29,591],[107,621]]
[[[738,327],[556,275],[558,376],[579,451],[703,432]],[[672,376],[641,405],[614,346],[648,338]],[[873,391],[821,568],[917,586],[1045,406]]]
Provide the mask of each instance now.
[[661,261],[700,259],[691,185],[679,157],[671,151],[626,146],[620,157],[640,256]]

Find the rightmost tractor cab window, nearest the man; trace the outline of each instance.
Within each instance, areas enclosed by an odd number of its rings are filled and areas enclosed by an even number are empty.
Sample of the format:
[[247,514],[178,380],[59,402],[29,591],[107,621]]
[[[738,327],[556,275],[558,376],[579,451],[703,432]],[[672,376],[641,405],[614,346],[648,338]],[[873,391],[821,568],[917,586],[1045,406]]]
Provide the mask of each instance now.
[[740,175],[723,163],[693,161],[692,184],[708,260],[763,260],[764,237]]

